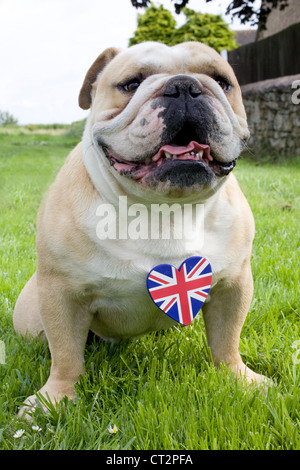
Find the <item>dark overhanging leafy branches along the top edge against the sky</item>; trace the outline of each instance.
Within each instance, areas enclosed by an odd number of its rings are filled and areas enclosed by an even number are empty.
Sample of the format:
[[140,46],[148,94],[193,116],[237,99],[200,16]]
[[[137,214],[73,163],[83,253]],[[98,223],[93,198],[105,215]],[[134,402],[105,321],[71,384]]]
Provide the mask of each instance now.
[[[205,1],[208,3],[213,0]],[[151,0],[131,0],[131,3],[135,8],[142,8],[149,6]],[[189,0],[181,0],[179,3],[175,3],[175,12],[179,14],[188,3]],[[259,10],[255,9],[253,3],[254,0],[232,0],[227,7],[226,14],[231,14],[232,18],[239,18],[242,24],[250,23],[252,26],[259,25],[260,29],[265,29],[271,11],[274,8],[283,10],[288,6],[289,0],[264,0]]]

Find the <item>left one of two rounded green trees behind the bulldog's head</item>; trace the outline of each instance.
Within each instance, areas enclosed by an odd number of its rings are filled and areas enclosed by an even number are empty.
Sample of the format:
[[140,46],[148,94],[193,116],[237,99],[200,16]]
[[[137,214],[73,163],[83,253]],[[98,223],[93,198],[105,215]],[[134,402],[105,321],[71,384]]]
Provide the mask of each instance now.
[[171,12],[162,5],[159,7],[151,4],[143,15],[138,14],[138,26],[134,36],[129,39],[129,46],[143,41],[158,41],[170,44],[176,21]]

